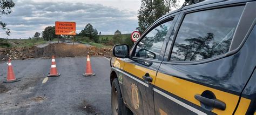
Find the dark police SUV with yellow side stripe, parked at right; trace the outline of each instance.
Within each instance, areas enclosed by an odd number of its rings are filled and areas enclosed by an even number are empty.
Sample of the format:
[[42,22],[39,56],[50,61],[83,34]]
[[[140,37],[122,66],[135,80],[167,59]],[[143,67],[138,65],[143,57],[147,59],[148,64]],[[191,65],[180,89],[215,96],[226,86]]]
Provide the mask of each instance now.
[[256,1],[195,2],[114,46],[113,114],[255,114],[255,24]]

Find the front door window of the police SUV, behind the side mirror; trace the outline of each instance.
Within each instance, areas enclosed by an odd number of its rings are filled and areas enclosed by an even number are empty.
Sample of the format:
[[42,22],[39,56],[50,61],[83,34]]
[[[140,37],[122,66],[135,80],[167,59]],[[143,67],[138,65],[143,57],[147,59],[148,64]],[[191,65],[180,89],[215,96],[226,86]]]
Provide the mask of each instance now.
[[165,36],[171,24],[172,21],[165,22],[147,33],[136,46],[135,56],[158,59]]

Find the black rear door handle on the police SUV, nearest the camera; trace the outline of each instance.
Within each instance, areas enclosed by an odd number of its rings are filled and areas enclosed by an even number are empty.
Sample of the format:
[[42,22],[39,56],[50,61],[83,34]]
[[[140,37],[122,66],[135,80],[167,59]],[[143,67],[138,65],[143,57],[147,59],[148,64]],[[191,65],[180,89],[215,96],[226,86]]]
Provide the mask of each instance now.
[[224,102],[221,102],[221,100],[209,99],[209,98],[201,96],[200,94],[194,95],[194,98],[199,100],[199,102],[204,103],[208,106],[211,106],[215,109],[219,109],[219,110],[225,110],[226,109],[226,104]]

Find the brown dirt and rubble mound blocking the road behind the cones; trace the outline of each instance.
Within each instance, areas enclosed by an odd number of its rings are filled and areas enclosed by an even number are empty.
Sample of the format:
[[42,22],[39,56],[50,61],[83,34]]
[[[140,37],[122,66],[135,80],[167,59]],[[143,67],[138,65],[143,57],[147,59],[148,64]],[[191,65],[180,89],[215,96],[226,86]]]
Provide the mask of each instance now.
[[37,57],[75,57],[75,56],[112,56],[111,48],[96,48],[93,46],[85,46],[83,44],[64,44],[53,43],[44,48],[0,48],[0,60],[26,59]]

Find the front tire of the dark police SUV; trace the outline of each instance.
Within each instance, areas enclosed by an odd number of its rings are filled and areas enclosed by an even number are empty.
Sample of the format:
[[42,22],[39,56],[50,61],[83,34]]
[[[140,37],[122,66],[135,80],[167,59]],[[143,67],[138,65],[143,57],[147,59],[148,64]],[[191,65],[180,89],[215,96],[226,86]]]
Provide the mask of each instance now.
[[113,115],[122,114],[122,103],[122,94],[118,83],[118,79],[114,78],[111,88],[111,107]]

